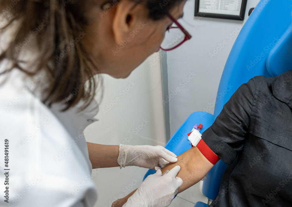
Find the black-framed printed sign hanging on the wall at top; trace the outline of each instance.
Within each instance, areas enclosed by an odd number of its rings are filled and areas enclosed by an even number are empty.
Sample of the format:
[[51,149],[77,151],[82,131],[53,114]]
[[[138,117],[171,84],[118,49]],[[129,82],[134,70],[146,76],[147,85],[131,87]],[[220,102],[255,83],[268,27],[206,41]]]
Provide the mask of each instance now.
[[244,20],[247,0],[195,0],[195,16]]

